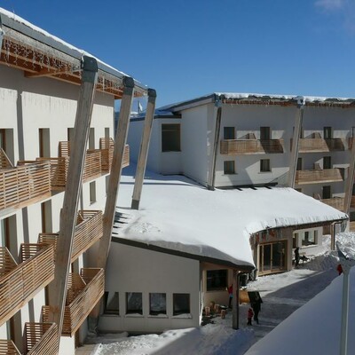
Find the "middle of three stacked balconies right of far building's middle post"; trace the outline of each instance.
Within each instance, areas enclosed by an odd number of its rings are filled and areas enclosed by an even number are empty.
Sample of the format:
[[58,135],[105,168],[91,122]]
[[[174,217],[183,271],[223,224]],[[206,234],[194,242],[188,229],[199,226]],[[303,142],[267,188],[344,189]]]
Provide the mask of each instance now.
[[324,170],[297,170],[296,184],[324,184],[337,181],[343,181],[344,170],[340,168]]

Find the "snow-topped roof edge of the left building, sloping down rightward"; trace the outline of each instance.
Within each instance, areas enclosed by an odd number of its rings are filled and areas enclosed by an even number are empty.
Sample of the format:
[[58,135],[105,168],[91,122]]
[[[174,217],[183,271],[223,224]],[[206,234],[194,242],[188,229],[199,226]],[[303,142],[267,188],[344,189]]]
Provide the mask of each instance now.
[[[1,28],[2,27],[2,28]],[[9,12],[0,7],[0,31],[4,32],[4,36],[12,36],[13,31],[18,34],[28,36],[29,38],[35,40],[37,43],[43,43],[50,48],[65,53],[66,55],[80,60],[83,55],[89,56],[97,59],[99,70],[105,72],[107,75],[113,75],[114,77],[122,80],[124,76],[130,76],[124,74],[122,71],[117,70],[114,67],[109,66],[102,60],[96,58],[91,55],[87,51],[83,51],[74,45],[71,45],[63,40],[61,40],[57,36],[53,36],[50,33],[44,31],[42,28],[36,27],[34,24],[28,22],[27,20],[22,19],[20,16],[17,16],[13,12]],[[20,41],[20,37],[17,35],[16,40]],[[23,44],[23,43],[22,43]],[[51,51],[51,55],[53,55],[53,51]],[[138,81],[135,81],[135,85],[138,91],[146,91],[146,86],[142,85]]]

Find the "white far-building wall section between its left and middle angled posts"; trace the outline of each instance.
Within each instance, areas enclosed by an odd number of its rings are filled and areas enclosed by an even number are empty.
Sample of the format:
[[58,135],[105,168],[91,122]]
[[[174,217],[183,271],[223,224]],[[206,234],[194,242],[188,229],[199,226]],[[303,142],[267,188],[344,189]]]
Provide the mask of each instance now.
[[[220,154],[218,146],[216,186],[263,185],[277,182],[288,172],[289,142],[292,138],[296,107],[261,105],[222,105],[220,140],[224,127],[234,127],[236,139],[254,133],[260,139],[260,127],[270,127],[272,139],[284,139],[283,154]],[[260,160],[270,159],[270,172],[260,171]],[[224,174],[224,162],[234,161],[235,174]]]

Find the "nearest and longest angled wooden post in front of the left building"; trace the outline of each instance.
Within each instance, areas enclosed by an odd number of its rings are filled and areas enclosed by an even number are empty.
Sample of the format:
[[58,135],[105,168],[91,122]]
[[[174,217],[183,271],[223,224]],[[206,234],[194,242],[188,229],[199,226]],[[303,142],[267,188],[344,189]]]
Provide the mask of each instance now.
[[67,172],[67,185],[63,208],[60,212],[60,231],[56,253],[56,264],[50,304],[49,321],[58,325],[59,341],[63,325],[64,308],[67,297],[67,279],[75,233],[75,223],[79,194],[83,179],[86,145],[89,137],[91,113],[95,86],[98,77],[96,59],[83,56],[82,86],[75,116],[75,134]]

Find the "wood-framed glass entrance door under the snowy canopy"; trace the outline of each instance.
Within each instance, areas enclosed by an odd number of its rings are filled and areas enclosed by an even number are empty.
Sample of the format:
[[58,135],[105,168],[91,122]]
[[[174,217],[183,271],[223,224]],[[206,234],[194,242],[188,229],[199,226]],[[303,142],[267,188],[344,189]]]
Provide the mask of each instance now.
[[260,273],[286,270],[287,241],[260,245]]

